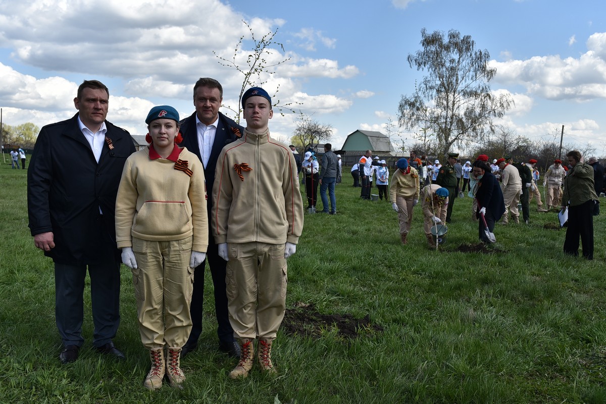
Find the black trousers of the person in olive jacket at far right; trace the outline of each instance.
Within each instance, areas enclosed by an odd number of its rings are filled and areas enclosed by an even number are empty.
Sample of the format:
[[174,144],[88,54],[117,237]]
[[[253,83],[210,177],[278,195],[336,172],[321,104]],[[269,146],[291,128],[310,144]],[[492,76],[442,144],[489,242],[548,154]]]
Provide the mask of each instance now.
[[568,227],[564,239],[564,253],[579,256],[579,237],[583,256],[593,259],[593,206],[589,200],[577,206],[568,206]]

